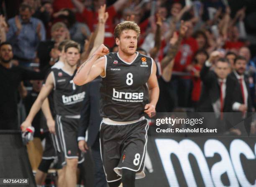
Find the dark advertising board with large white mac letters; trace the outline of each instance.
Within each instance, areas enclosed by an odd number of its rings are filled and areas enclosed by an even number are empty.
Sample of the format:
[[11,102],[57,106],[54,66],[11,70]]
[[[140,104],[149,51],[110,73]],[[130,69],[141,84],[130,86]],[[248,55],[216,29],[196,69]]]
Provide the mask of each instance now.
[[255,138],[148,138],[154,172],[136,187],[256,186]]

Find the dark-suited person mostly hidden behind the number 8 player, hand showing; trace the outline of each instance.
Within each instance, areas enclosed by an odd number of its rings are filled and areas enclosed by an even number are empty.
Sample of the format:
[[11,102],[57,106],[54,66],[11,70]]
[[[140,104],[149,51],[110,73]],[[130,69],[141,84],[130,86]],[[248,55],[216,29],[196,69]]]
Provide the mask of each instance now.
[[[97,78],[87,85],[84,98],[84,107],[81,111],[81,119],[78,129],[78,147],[86,152],[91,147],[95,166],[95,187],[107,187],[107,181],[100,156],[100,81]],[[85,132],[88,129],[88,139],[85,142]]]

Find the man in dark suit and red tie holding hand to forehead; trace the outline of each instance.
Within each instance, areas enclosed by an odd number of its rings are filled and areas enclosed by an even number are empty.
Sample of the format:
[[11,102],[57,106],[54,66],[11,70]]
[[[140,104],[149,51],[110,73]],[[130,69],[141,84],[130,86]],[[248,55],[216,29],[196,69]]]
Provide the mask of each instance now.
[[[198,111],[214,112],[216,118],[223,119],[223,112],[245,112],[247,107],[240,103],[241,92],[237,80],[228,75],[230,63],[225,58],[219,58],[220,55],[218,51],[212,52],[200,72],[203,87]],[[211,71],[210,68],[214,68],[214,71]],[[236,103],[240,103],[240,105],[236,107]],[[222,128],[227,130],[231,126]]]

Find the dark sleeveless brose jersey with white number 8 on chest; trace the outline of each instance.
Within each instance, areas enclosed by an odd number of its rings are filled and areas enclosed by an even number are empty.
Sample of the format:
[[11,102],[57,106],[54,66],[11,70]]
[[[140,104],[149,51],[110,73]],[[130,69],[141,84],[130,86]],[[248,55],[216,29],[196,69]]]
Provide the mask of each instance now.
[[114,121],[134,121],[145,115],[148,104],[146,82],[152,71],[152,58],[138,52],[132,63],[118,53],[105,56],[105,77],[100,85],[100,114]]

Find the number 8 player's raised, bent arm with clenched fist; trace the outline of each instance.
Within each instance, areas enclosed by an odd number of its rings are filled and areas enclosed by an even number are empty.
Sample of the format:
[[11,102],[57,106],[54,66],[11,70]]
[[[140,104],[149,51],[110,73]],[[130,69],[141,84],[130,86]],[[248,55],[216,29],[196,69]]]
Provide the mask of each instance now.
[[101,56],[108,53],[108,48],[104,44],[100,45],[95,53],[79,67],[73,79],[74,83],[81,86],[92,81],[99,75],[105,76],[105,57]]

